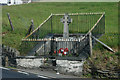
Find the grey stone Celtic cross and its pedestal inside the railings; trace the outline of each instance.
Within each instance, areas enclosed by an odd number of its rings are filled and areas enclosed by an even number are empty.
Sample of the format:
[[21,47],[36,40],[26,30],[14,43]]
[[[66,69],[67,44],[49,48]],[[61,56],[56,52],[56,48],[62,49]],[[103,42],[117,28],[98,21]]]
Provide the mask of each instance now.
[[[63,49],[68,49],[69,51],[74,49],[74,44],[73,42],[75,37],[69,37],[69,24],[72,22],[72,19],[70,16],[66,13],[63,18],[61,18],[61,22],[64,24],[63,28],[63,37],[56,37],[57,41],[57,50],[63,48]],[[68,53],[69,53],[68,51]]]

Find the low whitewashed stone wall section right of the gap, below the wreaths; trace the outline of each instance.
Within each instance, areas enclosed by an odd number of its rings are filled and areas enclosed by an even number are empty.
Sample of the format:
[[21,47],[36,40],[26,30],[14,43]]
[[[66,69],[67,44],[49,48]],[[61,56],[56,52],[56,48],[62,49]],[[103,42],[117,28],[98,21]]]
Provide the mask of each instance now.
[[84,61],[56,60],[57,70],[62,74],[81,76]]

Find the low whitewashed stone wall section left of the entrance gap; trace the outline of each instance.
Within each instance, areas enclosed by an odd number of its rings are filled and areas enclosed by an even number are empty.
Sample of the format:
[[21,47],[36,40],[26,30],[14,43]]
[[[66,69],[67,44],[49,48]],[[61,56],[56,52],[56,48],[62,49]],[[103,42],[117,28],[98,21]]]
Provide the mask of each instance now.
[[44,64],[43,58],[29,58],[29,59],[16,59],[18,67],[24,68],[39,68],[41,65]]

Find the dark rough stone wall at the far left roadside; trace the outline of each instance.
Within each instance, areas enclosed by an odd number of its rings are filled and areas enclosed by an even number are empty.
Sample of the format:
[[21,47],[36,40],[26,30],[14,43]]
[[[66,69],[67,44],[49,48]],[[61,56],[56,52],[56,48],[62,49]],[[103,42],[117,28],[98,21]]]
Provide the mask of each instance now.
[[2,66],[16,66],[16,60],[15,57],[20,55],[20,52],[12,47],[6,46],[6,45],[0,45],[1,47],[1,56],[2,56]]

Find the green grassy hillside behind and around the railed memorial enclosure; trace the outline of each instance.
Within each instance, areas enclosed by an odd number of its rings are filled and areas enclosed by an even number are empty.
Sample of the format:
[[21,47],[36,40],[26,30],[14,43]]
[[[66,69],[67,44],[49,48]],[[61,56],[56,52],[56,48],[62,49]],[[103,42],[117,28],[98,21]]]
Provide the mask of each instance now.
[[[97,44],[93,48],[93,56],[84,65],[85,76],[91,74],[87,72],[92,62],[94,66],[101,70],[116,69],[118,65],[118,3],[30,3],[23,5],[3,6],[2,12],[2,32],[6,33],[2,37],[5,45],[17,48],[20,51],[21,39],[25,37],[34,20],[34,26],[37,28],[51,13],[90,13],[105,12],[105,34],[100,38],[102,42],[116,51],[112,53]],[[11,32],[7,13],[15,28]],[[102,56],[101,56],[102,55]]]

